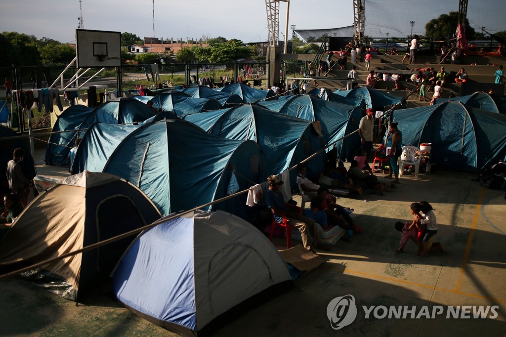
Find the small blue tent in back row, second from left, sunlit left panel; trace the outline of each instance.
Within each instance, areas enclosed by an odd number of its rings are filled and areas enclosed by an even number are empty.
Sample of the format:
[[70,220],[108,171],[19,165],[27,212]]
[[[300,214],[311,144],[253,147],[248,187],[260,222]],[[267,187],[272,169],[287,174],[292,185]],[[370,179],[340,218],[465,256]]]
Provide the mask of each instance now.
[[[183,94],[183,95],[181,95]],[[153,107],[161,111],[171,111],[177,116],[202,111],[212,111],[222,108],[220,102],[215,99],[195,98],[184,93],[165,94],[162,93],[152,99]]]

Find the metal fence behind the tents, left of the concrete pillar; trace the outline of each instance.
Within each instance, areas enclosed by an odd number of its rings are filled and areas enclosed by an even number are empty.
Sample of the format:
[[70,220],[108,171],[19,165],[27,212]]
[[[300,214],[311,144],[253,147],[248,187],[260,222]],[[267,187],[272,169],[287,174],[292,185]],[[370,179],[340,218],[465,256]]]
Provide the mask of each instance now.
[[[13,90],[16,91],[48,88],[53,83],[55,83],[55,88],[61,89],[67,86],[69,80],[77,72],[77,68],[72,66],[64,72],[63,78],[58,78],[65,68],[65,66],[0,67],[0,78],[9,79],[13,83]],[[123,64],[119,68],[120,83],[117,81],[116,68],[105,69],[96,77],[91,78],[99,70],[98,68],[88,70],[72,87],[78,88],[88,81],[86,86],[107,86],[108,92],[119,90],[123,92],[119,96],[125,96],[124,92],[135,91],[141,85],[143,88],[150,89],[160,86],[181,89],[183,86],[190,86],[196,82],[198,85],[205,83],[209,87],[219,88],[223,86],[222,79],[223,82],[248,81],[251,87],[257,89],[267,89],[269,84],[269,66],[266,62],[171,63],[158,64],[154,69],[150,65]],[[206,79],[205,82],[203,78]],[[78,91],[78,94],[86,93],[85,90]],[[0,99],[5,99],[5,91],[0,91]],[[10,112],[15,111],[16,120],[12,124],[13,128],[21,132],[28,130],[26,112],[21,112],[15,98],[9,99],[7,106]],[[39,113],[37,108],[32,108],[32,115],[35,120],[41,121],[34,125],[34,129],[50,127],[50,118],[42,118],[49,116],[46,111]]]

